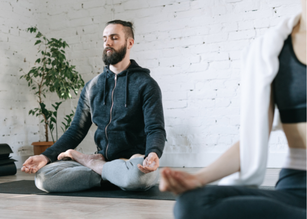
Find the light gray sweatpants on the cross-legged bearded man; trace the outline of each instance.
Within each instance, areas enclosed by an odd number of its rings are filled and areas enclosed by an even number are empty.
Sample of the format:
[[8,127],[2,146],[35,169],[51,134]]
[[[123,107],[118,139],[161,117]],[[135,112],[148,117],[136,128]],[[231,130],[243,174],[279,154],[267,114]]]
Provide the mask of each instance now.
[[35,185],[48,192],[81,191],[100,186],[102,178],[123,190],[145,191],[158,182],[159,171],[142,173],[137,165],[143,165],[143,160],[134,158],[106,162],[101,176],[76,161],[57,161],[39,169],[35,175]]

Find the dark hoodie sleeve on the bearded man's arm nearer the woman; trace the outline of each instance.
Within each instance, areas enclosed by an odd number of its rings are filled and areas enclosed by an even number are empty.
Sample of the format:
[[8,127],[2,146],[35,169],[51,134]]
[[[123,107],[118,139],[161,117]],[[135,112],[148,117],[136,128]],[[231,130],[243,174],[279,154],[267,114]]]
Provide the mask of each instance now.
[[144,89],[143,113],[147,135],[145,158],[151,152],[155,152],[161,158],[166,132],[164,129],[162,94],[158,83],[154,80],[147,84]]

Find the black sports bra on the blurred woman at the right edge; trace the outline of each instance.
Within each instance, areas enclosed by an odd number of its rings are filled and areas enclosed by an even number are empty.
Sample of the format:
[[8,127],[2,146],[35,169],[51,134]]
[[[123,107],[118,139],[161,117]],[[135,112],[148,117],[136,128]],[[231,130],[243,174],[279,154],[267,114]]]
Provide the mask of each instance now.
[[294,53],[291,34],[284,41],[278,59],[279,70],[273,81],[273,92],[281,122],[306,122],[306,65]]

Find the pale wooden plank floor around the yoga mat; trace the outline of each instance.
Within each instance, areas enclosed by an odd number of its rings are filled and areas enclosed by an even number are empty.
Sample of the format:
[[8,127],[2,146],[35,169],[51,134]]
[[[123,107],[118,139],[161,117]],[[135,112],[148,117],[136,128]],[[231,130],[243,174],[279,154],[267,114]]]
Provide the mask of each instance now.
[[[176,168],[195,173],[200,168]],[[280,169],[267,169],[262,185],[274,186]],[[34,175],[21,173],[0,177],[0,183],[34,180]],[[216,184],[216,182],[212,183]],[[64,196],[37,196],[33,194],[0,193],[0,218],[105,218],[105,219],[166,219],[173,218],[175,201],[110,199]]]

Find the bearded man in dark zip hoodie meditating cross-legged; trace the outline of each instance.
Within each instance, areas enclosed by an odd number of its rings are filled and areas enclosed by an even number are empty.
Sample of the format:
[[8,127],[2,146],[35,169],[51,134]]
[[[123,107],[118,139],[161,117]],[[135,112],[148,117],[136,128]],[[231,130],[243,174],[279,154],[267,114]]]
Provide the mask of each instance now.
[[[134,45],[131,22],[108,22],[103,40],[106,67],[82,89],[71,127],[21,168],[36,173],[41,190],[79,191],[100,186],[102,179],[123,190],[144,191],[158,181],[166,139],[161,90],[148,69],[129,59]],[[93,123],[97,153],[73,150]],[[64,161],[68,158],[72,160]]]

